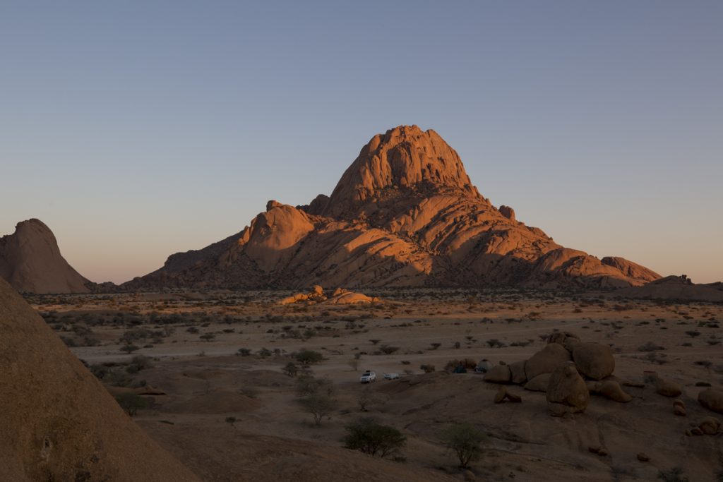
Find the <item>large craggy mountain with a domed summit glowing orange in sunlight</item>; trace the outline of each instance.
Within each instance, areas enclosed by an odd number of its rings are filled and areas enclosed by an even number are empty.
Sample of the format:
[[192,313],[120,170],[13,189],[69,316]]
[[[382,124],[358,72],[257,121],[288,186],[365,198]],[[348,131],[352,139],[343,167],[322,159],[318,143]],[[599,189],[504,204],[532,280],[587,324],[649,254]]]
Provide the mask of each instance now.
[[479,194],[436,132],[399,126],[372,137],[330,197],[270,201],[240,233],[174,254],[125,288],[605,288],[657,278],[620,257],[560,246]]

